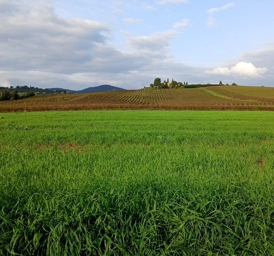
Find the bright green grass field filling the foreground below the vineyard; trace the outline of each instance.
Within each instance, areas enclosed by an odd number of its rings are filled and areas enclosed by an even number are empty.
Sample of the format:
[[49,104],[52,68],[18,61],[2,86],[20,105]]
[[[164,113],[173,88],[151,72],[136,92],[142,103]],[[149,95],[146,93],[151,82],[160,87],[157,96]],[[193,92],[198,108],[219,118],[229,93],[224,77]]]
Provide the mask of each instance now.
[[274,255],[274,113],[0,114],[0,255]]

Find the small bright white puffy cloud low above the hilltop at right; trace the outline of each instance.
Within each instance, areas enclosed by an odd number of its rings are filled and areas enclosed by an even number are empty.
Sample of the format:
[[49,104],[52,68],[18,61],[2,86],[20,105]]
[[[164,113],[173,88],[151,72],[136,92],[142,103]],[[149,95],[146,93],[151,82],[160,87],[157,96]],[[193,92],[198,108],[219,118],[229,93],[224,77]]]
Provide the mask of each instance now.
[[246,78],[260,77],[268,71],[267,68],[257,68],[251,62],[239,62],[235,66],[217,67],[212,70],[207,70],[208,75],[224,75],[224,76],[240,76]]

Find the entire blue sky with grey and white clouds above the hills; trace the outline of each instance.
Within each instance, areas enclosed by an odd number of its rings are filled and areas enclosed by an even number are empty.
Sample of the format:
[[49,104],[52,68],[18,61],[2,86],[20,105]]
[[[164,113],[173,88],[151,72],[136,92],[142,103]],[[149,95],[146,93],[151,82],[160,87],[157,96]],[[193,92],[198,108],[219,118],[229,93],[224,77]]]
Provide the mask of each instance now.
[[0,0],[0,85],[274,86],[273,0]]

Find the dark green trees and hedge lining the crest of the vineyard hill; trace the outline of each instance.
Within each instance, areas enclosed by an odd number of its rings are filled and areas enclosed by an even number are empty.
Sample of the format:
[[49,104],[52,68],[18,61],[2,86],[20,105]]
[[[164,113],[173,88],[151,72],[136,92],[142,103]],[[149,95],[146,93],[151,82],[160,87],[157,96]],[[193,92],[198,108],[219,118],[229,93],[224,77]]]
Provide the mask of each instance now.
[[[167,81],[163,81],[161,82],[161,79],[159,77],[156,77],[154,79],[154,83],[150,84],[150,88],[157,88],[157,89],[161,89],[161,88],[177,88],[177,87],[184,87],[184,88],[198,88],[198,87],[208,87],[208,86],[220,86],[220,85],[224,85],[222,83],[222,81],[220,81],[219,84],[192,84],[192,85],[188,85],[187,82],[177,82],[172,78],[171,83],[169,83],[169,80],[167,78]],[[229,85],[229,84],[226,84]],[[237,85],[235,83],[233,83],[232,85]]]

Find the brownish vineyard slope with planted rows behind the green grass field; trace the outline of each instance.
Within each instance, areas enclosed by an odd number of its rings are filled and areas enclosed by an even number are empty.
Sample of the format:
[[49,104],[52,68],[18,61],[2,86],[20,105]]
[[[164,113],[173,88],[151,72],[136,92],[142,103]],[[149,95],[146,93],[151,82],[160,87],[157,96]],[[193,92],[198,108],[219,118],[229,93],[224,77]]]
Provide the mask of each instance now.
[[274,88],[216,86],[140,89],[88,94],[37,95],[23,100],[0,102],[0,112],[105,109],[274,111]]

